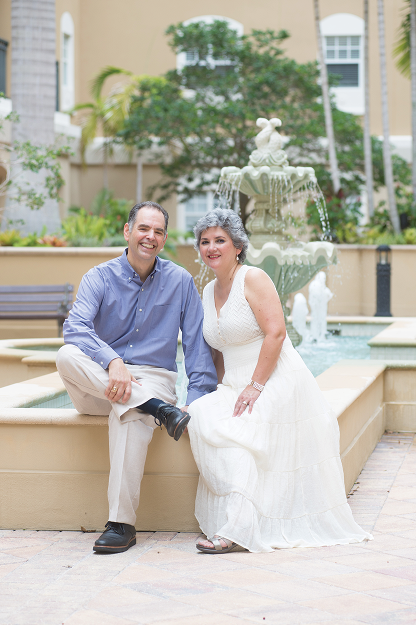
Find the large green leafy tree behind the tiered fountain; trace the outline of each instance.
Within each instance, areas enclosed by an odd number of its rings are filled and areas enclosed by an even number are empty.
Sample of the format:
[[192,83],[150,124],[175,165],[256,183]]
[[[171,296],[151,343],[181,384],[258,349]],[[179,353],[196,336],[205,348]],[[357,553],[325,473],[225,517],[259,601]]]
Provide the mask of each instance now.
[[[325,197],[334,198],[327,163],[325,120],[317,63],[285,57],[286,31],[252,31],[239,37],[225,21],[176,24],[167,29],[175,53],[194,61],[154,83],[142,79],[132,98],[122,141],[156,149],[162,179],[152,189],[159,201],[172,193],[184,199],[213,187],[223,166],[245,166],[254,149],[259,117],[278,117],[290,163],[312,165]],[[219,63],[220,61],[220,63]],[[330,77],[332,84],[335,78]],[[363,133],[359,119],[331,103],[339,160],[341,197],[364,184]],[[383,164],[375,155],[375,185]],[[242,216],[248,198],[240,194]]]

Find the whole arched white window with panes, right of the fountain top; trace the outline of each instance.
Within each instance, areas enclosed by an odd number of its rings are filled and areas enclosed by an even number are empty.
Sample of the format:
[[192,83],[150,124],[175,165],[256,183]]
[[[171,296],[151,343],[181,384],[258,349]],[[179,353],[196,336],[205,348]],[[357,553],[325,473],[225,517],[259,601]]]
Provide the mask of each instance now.
[[332,88],[340,111],[364,114],[364,19],[335,13],[320,22],[324,57],[329,74],[339,76]]

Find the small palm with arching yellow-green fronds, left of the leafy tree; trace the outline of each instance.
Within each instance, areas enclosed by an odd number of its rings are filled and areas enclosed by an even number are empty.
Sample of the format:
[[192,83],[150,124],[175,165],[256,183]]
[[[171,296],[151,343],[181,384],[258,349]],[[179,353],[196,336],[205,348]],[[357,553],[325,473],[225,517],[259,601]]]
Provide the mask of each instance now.
[[[101,94],[102,87],[106,79],[115,74],[129,76],[130,81],[127,85],[112,89],[109,95],[104,98]],[[134,76],[134,74],[127,69],[107,66],[91,81],[90,93],[93,101],[76,104],[76,106],[69,111],[71,114],[86,109],[89,111],[89,114],[84,116],[82,120],[81,157],[83,163],[85,162],[87,146],[94,141],[99,129],[102,129],[102,134],[104,136],[104,142],[102,144],[103,182],[105,189],[108,189],[108,161],[112,154],[112,139],[114,139],[116,134],[122,129],[124,120],[129,116],[131,98],[137,89],[137,81],[139,78],[139,76]]]

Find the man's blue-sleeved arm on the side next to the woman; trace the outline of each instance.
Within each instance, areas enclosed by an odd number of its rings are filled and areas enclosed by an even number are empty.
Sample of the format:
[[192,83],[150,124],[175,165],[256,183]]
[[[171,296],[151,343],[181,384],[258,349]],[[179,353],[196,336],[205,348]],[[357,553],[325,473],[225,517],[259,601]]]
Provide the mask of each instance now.
[[185,369],[189,378],[186,403],[215,391],[217,374],[210,347],[202,336],[204,313],[201,297],[191,276],[184,283],[182,295],[182,347],[184,348]]

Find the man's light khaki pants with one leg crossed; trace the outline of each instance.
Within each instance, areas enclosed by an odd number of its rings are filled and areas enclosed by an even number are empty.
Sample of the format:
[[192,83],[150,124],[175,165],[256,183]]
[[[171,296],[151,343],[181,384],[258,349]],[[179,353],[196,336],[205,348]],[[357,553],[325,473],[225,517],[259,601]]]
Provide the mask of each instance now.
[[126,364],[142,386],[133,382],[131,397],[126,404],[122,404],[104,397],[109,381],[108,371],[78,347],[61,347],[56,366],[78,412],[109,415],[109,521],[134,525],[147,446],[156,427],[154,417],[137,410],[136,406],[151,397],[176,404],[177,373],[159,367]]

